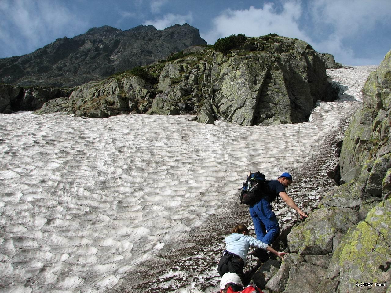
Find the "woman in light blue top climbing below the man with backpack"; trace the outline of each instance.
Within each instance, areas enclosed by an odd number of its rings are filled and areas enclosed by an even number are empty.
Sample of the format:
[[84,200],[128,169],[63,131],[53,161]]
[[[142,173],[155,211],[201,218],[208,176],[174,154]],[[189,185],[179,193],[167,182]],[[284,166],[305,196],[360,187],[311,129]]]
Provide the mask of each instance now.
[[244,224],[233,227],[231,233],[224,239],[226,247],[217,266],[220,277],[225,273],[237,273],[242,282],[245,281],[243,269],[250,245],[270,251],[282,259],[287,254],[286,252],[277,252],[266,243],[248,236],[249,232]]

